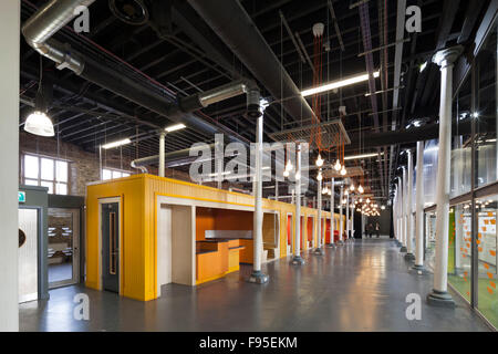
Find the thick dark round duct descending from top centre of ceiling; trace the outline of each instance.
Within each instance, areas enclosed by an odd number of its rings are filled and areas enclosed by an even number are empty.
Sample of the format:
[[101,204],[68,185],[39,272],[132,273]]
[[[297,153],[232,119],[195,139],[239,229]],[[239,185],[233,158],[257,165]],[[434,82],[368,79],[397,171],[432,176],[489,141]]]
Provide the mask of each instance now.
[[286,98],[282,106],[288,114],[299,121],[311,119],[313,111],[301,96],[298,86],[258,31],[240,1],[188,0],[188,3],[273,97]]

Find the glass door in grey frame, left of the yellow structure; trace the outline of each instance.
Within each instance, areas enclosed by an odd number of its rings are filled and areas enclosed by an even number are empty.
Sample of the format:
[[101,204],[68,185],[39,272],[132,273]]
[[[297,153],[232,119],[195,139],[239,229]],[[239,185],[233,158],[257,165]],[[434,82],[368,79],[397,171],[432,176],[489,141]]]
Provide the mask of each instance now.
[[49,209],[49,288],[79,282],[80,210]]

